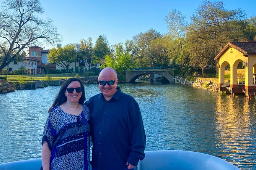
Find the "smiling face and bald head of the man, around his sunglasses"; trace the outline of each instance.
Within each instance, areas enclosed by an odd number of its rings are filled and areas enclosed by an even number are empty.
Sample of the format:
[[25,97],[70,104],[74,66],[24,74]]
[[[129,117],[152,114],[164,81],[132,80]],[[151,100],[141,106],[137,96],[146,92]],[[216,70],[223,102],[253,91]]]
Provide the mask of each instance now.
[[[116,80],[117,77],[112,70],[105,70],[99,75],[98,79],[103,81],[109,81]],[[108,85],[108,83],[106,83],[106,85],[103,86],[99,84],[99,90],[101,91],[106,100],[110,100],[116,93],[117,82],[118,79],[114,82],[113,85]]]

